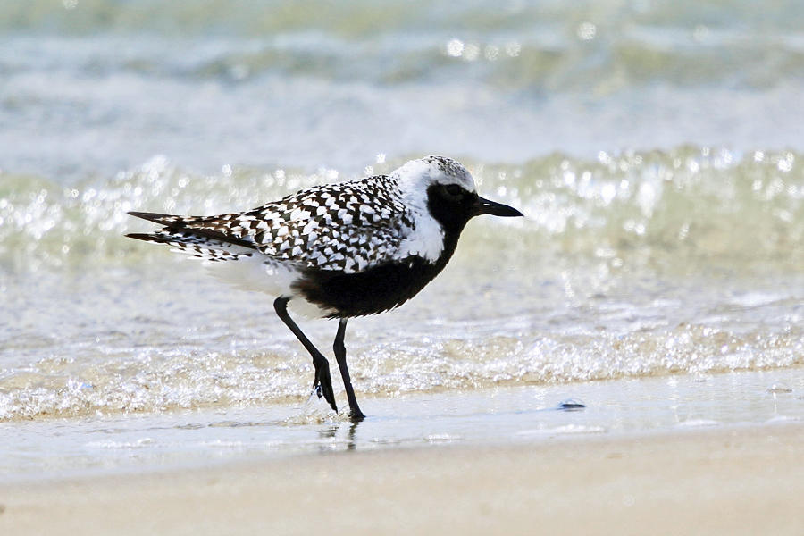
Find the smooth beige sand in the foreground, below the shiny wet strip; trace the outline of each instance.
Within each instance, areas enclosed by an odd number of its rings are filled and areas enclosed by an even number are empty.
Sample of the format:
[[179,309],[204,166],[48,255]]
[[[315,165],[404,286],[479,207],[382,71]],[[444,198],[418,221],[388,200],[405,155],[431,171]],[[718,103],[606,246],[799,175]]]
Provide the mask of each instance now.
[[804,533],[804,424],[333,452],[0,488],[0,533]]

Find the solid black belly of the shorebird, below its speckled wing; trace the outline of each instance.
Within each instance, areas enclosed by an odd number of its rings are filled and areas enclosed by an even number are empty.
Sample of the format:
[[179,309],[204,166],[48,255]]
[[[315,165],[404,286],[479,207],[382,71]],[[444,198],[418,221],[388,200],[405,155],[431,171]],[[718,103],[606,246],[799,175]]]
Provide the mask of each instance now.
[[334,309],[331,318],[377,314],[414,297],[439,274],[450,255],[442,255],[447,258],[436,263],[410,257],[359,273],[308,270],[295,287],[307,301]]

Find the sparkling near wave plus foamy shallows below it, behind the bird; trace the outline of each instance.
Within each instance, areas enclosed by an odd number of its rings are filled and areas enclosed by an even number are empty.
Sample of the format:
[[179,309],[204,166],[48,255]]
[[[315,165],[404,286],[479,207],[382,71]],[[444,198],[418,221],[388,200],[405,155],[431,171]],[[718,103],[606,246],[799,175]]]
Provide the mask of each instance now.
[[[794,247],[804,175],[780,171],[787,162],[795,157],[687,148],[474,164],[481,191],[527,217],[471,222],[448,269],[411,303],[350,322],[356,389],[393,396],[804,363],[804,248]],[[129,209],[214,213],[321,180],[222,180],[157,159],[76,188],[18,180],[0,192],[0,419],[306,396],[312,365],[270,297],[122,234],[147,228]],[[303,322],[324,349],[335,327]]]

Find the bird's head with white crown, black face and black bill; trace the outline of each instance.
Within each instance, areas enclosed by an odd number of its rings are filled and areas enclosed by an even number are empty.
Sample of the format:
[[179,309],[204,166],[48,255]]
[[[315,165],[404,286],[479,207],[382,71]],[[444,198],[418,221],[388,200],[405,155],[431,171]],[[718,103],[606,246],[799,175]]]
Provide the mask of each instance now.
[[393,175],[405,192],[409,205],[426,207],[445,230],[463,230],[466,222],[480,214],[522,216],[515,208],[477,195],[472,174],[445,156],[411,160]]

